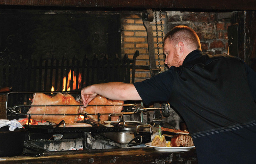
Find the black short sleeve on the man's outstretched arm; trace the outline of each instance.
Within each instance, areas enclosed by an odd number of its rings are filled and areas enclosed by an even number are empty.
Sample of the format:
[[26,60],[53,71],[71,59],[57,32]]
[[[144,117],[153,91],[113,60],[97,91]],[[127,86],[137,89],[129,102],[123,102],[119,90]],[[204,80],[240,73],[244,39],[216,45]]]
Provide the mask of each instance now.
[[158,74],[151,79],[134,83],[134,86],[142,98],[143,103],[148,105],[156,101],[168,101],[173,84],[172,70]]

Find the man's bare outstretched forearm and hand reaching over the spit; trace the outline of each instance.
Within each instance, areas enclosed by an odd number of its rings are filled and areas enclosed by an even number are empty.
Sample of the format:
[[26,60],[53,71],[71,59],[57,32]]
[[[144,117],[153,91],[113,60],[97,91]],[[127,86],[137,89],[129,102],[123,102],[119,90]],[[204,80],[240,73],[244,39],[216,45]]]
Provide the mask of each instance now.
[[81,90],[81,97],[84,106],[87,106],[97,94],[112,100],[142,100],[133,84],[109,82],[83,88]]

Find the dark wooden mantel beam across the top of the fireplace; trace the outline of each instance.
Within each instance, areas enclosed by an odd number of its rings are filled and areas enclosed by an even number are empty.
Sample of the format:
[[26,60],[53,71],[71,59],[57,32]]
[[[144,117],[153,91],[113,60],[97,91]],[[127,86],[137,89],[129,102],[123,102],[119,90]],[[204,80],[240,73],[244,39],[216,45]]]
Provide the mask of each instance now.
[[0,0],[0,5],[171,10],[256,10],[255,0]]

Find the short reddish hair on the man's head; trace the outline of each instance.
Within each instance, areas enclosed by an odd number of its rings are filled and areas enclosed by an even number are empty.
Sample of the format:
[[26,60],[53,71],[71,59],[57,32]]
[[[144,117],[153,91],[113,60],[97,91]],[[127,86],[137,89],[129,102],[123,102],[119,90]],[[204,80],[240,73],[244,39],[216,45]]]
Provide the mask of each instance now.
[[196,32],[188,26],[175,26],[166,34],[164,41],[166,41],[166,39],[168,39],[173,46],[176,46],[179,41],[182,41],[191,49],[201,49],[199,37]]

